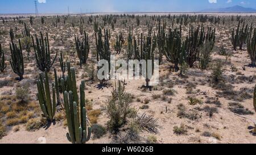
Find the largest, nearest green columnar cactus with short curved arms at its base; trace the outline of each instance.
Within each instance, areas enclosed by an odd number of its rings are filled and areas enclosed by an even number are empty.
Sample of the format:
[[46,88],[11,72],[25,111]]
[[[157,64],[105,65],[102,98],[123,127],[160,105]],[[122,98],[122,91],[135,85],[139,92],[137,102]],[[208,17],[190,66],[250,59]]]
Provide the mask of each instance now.
[[64,103],[68,124],[67,139],[73,144],[85,144],[89,141],[91,128],[87,125],[86,108],[85,108],[85,83],[80,85],[80,107],[75,102],[72,91],[65,91]]

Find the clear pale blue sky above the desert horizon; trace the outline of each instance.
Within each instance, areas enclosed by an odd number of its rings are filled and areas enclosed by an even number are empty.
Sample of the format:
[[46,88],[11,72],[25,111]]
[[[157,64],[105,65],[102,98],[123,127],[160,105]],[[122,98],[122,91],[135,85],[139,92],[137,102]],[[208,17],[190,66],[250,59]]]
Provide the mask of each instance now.
[[[179,12],[240,5],[256,9],[255,0],[36,0],[39,13]],[[34,13],[34,0],[0,0],[0,14]]]

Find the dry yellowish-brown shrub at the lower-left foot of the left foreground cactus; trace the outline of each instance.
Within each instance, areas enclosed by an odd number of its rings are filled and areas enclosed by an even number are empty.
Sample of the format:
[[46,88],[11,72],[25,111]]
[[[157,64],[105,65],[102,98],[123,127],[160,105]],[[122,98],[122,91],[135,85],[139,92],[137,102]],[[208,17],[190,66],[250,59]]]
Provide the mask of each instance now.
[[36,131],[47,124],[47,120],[44,118],[41,119],[30,119],[26,124],[27,131]]

